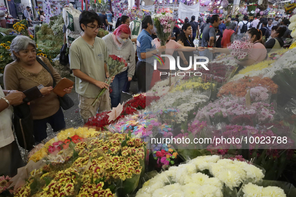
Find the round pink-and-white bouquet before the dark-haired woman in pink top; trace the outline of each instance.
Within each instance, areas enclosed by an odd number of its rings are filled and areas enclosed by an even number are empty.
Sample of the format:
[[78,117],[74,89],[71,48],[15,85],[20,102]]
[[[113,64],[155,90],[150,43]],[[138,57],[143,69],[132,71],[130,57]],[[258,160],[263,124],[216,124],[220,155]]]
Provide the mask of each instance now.
[[248,54],[251,52],[253,43],[248,37],[243,34],[243,37],[237,37],[227,48],[230,51],[231,56],[237,60],[243,60],[247,58]]

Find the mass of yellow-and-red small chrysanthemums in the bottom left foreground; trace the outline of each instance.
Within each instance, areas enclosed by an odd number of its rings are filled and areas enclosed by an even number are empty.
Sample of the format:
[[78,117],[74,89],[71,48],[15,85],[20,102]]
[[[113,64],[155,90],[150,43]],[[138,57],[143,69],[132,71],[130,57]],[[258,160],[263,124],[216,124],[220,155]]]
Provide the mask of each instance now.
[[144,167],[145,143],[127,134],[101,133],[31,172],[15,196],[116,196],[132,193]]

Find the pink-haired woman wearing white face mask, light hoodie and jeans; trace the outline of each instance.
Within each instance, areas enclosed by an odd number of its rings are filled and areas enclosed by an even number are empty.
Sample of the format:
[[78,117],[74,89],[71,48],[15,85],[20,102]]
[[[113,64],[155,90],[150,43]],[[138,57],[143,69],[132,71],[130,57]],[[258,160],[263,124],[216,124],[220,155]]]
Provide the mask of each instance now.
[[116,107],[121,100],[121,92],[127,81],[131,81],[135,73],[136,59],[135,50],[132,41],[129,39],[131,30],[127,24],[121,24],[115,31],[103,37],[106,45],[108,45],[108,54],[123,56],[130,64],[123,68],[123,71],[117,74],[111,83],[112,92],[111,106]]

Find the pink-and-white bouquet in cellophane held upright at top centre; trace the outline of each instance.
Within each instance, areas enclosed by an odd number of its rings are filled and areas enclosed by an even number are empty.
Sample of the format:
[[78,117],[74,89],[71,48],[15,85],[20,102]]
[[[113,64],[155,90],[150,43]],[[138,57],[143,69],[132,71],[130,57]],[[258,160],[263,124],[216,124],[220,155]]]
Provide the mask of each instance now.
[[[171,14],[171,10],[169,8],[159,9],[157,14],[152,15],[152,19],[160,45],[164,46],[175,25],[175,19]],[[165,54],[165,52],[162,52],[162,54]],[[163,61],[165,61],[165,58]]]

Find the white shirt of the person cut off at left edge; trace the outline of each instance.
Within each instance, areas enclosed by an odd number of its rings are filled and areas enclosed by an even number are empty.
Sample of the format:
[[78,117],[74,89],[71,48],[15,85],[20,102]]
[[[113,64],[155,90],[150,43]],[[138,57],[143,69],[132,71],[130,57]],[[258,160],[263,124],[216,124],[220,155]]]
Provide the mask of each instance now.
[[[0,86],[0,97],[4,97],[5,94]],[[4,109],[0,112],[0,148],[12,143],[15,140],[12,129],[12,116],[13,111],[11,109]]]

